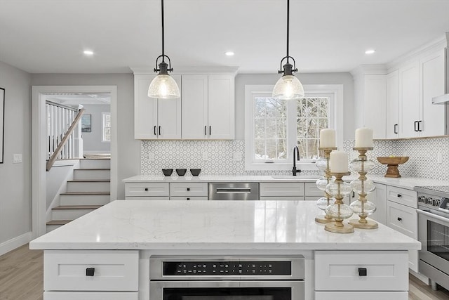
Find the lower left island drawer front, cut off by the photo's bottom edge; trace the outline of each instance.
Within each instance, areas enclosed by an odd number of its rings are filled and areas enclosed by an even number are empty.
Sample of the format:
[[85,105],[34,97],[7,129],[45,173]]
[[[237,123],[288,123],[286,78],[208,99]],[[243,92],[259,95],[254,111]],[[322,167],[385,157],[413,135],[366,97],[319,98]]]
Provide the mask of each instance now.
[[138,300],[139,292],[43,292],[43,300]]

